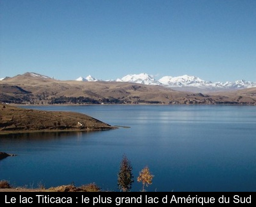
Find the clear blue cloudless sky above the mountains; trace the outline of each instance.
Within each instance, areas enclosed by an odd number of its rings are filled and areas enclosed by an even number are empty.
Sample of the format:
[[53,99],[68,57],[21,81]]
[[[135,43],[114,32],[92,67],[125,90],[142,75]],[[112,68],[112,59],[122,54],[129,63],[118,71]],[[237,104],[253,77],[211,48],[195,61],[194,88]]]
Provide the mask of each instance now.
[[256,82],[255,0],[1,0],[0,77]]

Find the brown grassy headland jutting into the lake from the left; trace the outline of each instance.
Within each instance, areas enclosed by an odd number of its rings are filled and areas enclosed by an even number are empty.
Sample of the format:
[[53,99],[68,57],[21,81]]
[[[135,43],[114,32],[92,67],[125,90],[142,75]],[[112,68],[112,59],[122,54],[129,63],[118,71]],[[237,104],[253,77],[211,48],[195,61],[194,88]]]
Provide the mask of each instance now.
[[76,112],[39,111],[0,104],[0,133],[38,131],[96,131],[114,129]]

